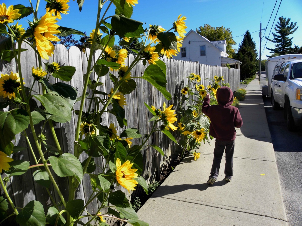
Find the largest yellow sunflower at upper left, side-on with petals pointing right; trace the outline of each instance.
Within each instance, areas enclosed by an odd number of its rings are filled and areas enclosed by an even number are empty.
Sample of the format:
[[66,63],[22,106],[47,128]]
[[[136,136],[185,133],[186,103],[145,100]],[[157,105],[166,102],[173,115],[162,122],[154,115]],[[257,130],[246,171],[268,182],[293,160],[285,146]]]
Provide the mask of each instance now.
[[31,24],[34,34],[34,43],[37,46],[37,50],[40,56],[48,60],[48,56],[51,56],[55,47],[50,41],[59,42],[61,41],[54,34],[60,33],[57,28],[59,25],[55,24],[58,22],[55,16],[50,13],[46,13],[37,23]]

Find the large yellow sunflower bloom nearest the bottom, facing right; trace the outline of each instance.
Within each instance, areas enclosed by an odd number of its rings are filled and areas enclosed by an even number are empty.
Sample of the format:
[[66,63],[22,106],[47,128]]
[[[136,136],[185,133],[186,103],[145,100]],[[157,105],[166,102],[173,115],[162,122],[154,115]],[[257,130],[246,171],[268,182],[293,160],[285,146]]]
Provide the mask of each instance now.
[[133,179],[137,178],[138,174],[135,173],[137,169],[131,169],[133,163],[130,163],[130,161],[127,160],[121,165],[120,159],[117,158],[115,164],[117,168],[115,171],[117,183],[126,188],[128,192],[130,190],[135,190],[134,187],[137,186],[138,182]]

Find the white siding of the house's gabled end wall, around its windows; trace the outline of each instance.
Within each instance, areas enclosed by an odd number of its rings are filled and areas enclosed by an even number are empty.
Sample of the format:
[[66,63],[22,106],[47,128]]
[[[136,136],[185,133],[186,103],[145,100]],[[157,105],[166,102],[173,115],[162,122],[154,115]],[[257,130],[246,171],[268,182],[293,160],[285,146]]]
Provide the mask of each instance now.
[[[200,46],[206,46],[205,56],[200,55]],[[214,46],[207,39],[205,39],[195,31],[188,33],[187,37],[185,37],[185,39],[183,40],[182,47],[186,48],[186,57],[182,57],[182,54],[180,52],[176,56],[173,56],[173,59],[192,62],[198,61],[200,64],[221,66],[220,49],[218,49],[216,46]]]

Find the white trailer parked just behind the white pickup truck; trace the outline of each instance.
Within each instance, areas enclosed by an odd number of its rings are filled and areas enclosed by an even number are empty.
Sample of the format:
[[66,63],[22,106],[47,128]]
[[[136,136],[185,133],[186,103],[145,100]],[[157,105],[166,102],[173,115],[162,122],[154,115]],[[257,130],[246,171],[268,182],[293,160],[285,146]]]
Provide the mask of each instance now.
[[262,86],[262,95],[271,97],[271,81],[278,74],[283,62],[302,59],[302,54],[286,54],[268,58],[265,62],[265,86]]

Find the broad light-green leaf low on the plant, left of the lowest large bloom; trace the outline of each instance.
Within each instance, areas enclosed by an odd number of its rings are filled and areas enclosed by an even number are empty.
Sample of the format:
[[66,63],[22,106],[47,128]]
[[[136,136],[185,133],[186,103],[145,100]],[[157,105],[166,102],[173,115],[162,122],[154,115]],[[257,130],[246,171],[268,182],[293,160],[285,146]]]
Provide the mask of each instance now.
[[75,176],[81,183],[83,177],[83,168],[79,159],[70,153],[64,153],[60,157],[50,156],[49,162],[53,168],[53,171],[59,177]]

